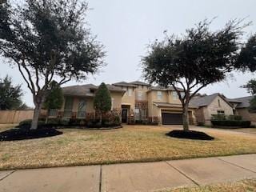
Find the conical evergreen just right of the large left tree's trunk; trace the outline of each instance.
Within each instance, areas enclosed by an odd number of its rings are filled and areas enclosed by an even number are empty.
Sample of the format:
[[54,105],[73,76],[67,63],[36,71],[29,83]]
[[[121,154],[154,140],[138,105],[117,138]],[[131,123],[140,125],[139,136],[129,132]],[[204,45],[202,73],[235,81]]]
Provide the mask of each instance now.
[[44,107],[47,110],[50,109],[60,109],[64,102],[64,96],[62,93],[62,88],[58,85],[58,82],[51,82],[49,93],[46,96],[46,101]]

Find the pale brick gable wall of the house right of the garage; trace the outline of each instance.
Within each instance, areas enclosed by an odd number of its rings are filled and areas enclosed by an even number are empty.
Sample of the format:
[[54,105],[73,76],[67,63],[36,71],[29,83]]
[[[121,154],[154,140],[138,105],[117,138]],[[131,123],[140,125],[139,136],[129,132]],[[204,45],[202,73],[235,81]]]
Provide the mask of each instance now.
[[[218,106],[218,101],[220,103],[220,106]],[[234,114],[233,108],[225,100],[217,96],[216,98],[214,98],[214,101],[212,101],[209,106],[203,107],[203,115],[205,119],[205,124],[207,126],[211,125],[211,115],[218,114],[218,110],[223,110],[225,115]]]

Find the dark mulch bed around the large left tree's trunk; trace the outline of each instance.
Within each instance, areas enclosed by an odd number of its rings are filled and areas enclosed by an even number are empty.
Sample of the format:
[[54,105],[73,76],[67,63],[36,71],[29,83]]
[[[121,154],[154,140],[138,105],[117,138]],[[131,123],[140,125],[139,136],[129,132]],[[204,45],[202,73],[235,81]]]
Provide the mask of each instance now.
[[46,138],[62,134],[61,131],[53,128],[38,128],[37,130],[14,128],[0,133],[0,142],[16,141],[32,138]]

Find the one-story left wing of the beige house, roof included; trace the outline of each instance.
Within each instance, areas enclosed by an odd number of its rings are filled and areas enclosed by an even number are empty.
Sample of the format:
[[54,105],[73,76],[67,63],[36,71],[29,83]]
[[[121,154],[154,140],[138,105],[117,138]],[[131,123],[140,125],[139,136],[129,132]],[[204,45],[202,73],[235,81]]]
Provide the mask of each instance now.
[[[106,85],[110,90],[112,99],[111,110],[121,113],[122,95],[124,90],[117,86]],[[87,84],[82,86],[66,86],[62,87],[64,94],[64,103],[61,110],[50,110],[49,117],[62,118],[86,118],[86,115],[94,114],[94,95],[98,86]]]

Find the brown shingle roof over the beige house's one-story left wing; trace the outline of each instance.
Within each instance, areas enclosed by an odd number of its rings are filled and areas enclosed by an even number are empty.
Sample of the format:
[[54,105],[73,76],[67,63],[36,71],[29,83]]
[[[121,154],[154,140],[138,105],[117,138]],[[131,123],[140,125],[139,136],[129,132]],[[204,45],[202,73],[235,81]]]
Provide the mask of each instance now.
[[[106,85],[110,91],[125,92],[118,86]],[[91,90],[97,90],[98,86],[93,84],[86,84],[81,86],[65,86],[62,87],[63,94],[65,95],[75,95],[75,96],[94,96],[94,93]]]

